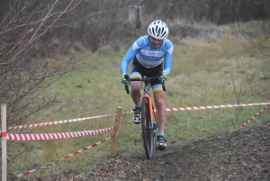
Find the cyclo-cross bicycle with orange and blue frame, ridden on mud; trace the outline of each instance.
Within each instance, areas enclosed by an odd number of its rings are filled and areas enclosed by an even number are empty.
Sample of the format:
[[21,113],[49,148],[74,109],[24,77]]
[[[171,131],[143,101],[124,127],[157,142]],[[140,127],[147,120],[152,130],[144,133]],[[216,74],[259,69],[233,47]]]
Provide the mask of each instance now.
[[[160,73],[159,73],[160,74]],[[154,104],[149,92],[149,83],[151,79],[158,77],[141,77],[141,78],[130,78],[125,75],[125,78],[129,81],[141,81],[145,85],[143,87],[144,94],[141,98],[141,131],[145,153],[148,159],[153,157],[154,146],[157,140],[157,115],[155,113]],[[162,81],[163,91],[166,91],[165,83]],[[127,94],[130,94],[129,86],[125,85]],[[157,148],[156,148],[157,149]]]

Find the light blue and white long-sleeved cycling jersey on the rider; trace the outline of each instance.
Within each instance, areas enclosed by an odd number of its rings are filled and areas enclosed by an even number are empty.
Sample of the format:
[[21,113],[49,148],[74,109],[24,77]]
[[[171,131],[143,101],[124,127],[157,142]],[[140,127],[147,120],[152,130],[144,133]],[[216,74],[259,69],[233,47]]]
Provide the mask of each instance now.
[[153,49],[148,35],[141,36],[132,44],[130,50],[128,50],[121,60],[121,74],[127,74],[128,65],[131,59],[136,56],[139,63],[146,68],[154,68],[164,60],[164,70],[169,75],[171,72],[173,50],[173,43],[167,39],[164,39],[157,49]]

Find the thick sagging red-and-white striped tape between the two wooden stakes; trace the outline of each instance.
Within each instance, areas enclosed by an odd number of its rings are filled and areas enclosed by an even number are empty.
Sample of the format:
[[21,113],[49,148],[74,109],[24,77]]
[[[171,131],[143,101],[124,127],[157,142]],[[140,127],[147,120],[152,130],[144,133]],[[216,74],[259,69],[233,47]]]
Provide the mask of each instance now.
[[55,139],[67,139],[76,138],[87,135],[94,135],[103,133],[106,131],[112,131],[112,128],[104,128],[100,130],[92,131],[76,131],[76,132],[60,132],[60,133],[40,133],[40,134],[14,134],[7,133],[6,140],[55,140]]

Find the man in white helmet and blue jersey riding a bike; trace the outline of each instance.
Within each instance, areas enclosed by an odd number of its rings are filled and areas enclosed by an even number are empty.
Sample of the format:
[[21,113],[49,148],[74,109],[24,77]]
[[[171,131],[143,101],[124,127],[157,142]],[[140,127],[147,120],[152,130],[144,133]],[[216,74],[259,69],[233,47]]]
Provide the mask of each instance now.
[[150,82],[157,108],[157,149],[159,150],[166,149],[166,140],[164,139],[166,110],[161,80],[165,81],[171,72],[174,50],[173,43],[166,39],[168,32],[166,23],[163,23],[161,20],[150,23],[148,26],[148,35],[139,37],[121,60],[121,83],[131,85],[130,95],[135,104],[135,108],[133,109],[133,122],[136,124],[141,122],[141,82],[132,81],[130,83],[125,78],[128,65],[131,59],[133,59],[130,77],[157,77],[162,70],[162,75],[158,79],[153,79]]

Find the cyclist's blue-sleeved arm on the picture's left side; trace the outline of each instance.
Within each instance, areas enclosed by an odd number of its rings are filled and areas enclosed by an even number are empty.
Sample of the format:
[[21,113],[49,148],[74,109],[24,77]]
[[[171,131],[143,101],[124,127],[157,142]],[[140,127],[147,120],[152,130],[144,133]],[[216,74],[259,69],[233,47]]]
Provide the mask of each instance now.
[[121,74],[127,73],[131,59],[136,56],[136,54],[139,52],[139,49],[141,49],[144,44],[145,39],[143,37],[139,37],[139,39],[132,44],[130,50],[128,50],[124,58],[121,60]]

